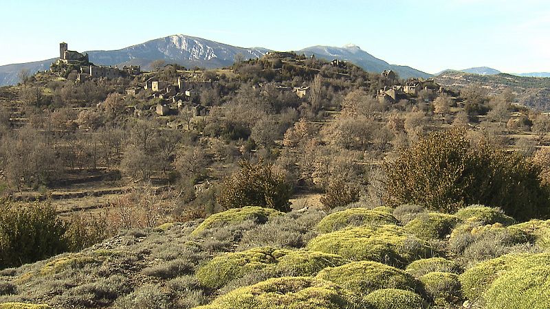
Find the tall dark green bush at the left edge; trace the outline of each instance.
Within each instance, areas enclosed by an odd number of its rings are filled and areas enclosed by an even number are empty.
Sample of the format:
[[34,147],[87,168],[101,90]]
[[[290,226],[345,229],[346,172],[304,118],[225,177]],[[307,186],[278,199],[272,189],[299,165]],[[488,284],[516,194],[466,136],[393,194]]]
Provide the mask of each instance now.
[[0,201],[0,268],[67,251],[65,230],[65,223],[51,205],[13,205]]

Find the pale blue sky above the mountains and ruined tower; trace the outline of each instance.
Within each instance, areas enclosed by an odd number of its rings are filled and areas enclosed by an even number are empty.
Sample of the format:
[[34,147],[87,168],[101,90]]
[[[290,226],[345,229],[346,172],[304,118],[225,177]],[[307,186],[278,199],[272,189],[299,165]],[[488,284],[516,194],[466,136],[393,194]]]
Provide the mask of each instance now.
[[69,49],[121,49],[172,34],[279,51],[358,45],[427,73],[550,72],[547,0],[1,0],[0,65]]

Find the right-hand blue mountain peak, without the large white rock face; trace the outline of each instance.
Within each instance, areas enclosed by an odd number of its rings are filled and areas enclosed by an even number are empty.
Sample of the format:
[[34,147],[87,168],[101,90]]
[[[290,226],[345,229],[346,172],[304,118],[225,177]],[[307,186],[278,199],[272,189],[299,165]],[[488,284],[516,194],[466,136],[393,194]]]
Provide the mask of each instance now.
[[388,62],[384,60],[380,60],[375,56],[367,52],[364,52],[364,50],[360,49],[360,47],[353,44],[345,45],[344,47],[331,47],[331,46],[317,45],[317,46],[307,47],[296,53],[305,54],[308,57],[313,54],[316,56],[316,58],[322,58],[326,60],[333,60],[333,59],[346,60],[354,63],[355,65],[358,65],[359,67],[362,67],[366,71],[382,72],[386,69],[391,69],[397,72],[400,78],[411,78],[411,77],[429,78],[431,76],[428,73],[419,71],[417,69],[413,69],[412,67],[406,67],[401,65],[390,65]]

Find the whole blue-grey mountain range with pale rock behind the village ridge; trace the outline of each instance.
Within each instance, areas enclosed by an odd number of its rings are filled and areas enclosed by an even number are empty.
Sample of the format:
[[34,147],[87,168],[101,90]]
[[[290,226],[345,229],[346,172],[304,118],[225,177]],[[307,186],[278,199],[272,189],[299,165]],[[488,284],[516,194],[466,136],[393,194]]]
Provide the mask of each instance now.
[[[52,50],[56,51],[57,47],[52,46]],[[93,50],[86,53],[89,55],[89,60],[96,65],[118,65],[119,67],[123,65],[140,65],[142,69],[149,69],[151,62],[157,59],[164,59],[168,63],[177,63],[184,67],[197,66],[212,69],[232,65],[234,57],[237,54],[241,54],[245,58],[259,58],[269,51],[269,49],[262,47],[235,47],[208,41],[204,38],[176,34],[118,50]],[[333,58],[347,60],[367,71],[382,72],[385,69],[392,69],[401,78],[430,77],[430,74],[411,67],[390,65],[388,62],[364,52],[356,45],[346,45],[344,47],[307,47],[298,52],[298,54],[302,53],[307,56],[315,54],[316,57],[327,60],[332,60]],[[49,69],[50,64],[55,60],[56,58],[52,58],[36,62],[0,66],[0,86],[17,84],[17,73],[21,69],[28,69],[32,73],[43,71]]]

